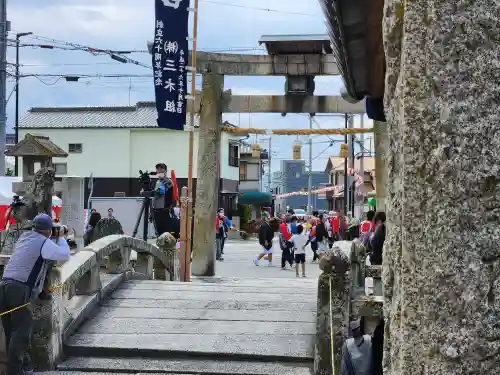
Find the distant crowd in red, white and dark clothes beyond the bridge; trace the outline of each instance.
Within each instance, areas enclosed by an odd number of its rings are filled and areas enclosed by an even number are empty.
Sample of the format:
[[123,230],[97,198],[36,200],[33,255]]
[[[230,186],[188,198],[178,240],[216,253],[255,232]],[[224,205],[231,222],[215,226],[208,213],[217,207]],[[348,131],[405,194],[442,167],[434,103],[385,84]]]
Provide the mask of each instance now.
[[[369,260],[373,265],[382,264],[382,249],[385,241],[384,212],[368,211],[366,219],[359,223],[352,213],[344,215],[342,211],[319,214],[314,211],[312,217],[299,222],[293,210],[281,219],[264,215],[259,228],[259,243],[262,251],[254,259],[256,266],[262,260],[273,264],[273,241],[275,232],[279,233],[279,246],[282,251],[281,269],[287,266],[295,269],[297,277],[306,277],[307,249],[312,252],[312,262],[324,256],[336,241],[359,240],[368,249]],[[301,272],[300,272],[301,271]]]

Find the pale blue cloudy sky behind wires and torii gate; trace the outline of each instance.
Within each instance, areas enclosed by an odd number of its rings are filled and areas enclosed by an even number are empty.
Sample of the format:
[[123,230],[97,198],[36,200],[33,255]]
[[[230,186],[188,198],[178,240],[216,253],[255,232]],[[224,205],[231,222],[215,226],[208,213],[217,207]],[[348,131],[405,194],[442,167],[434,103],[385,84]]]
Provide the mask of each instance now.
[[[320,5],[316,0],[200,0],[199,6],[200,50],[259,48],[258,40],[264,34],[326,33]],[[151,40],[154,33],[153,0],[10,0],[7,11],[12,28],[10,38],[14,38],[17,32],[34,33],[34,36],[24,37],[23,43],[56,44],[44,39],[48,38],[101,49],[145,50],[146,41]],[[60,43],[57,45],[65,46]],[[10,63],[15,62],[14,52],[14,48],[8,49]],[[136,53],[130,57],[150,64],[147,53]],[[109,56],[29,47],[21,48],[20,62],[22,74],[151,72],[143,67],[114,62]],[[52,78],[43,80],[45,83],[33,77],[21,79],[21,112],[36,106],[128,105],[129,100],[131,104],[154,100],[153,83],[149,78],[91,78],[80,82],[55,82],[56,79]],[[235,94],[283,94],[283,85],[282,77],[225,79],[226,88],[231,88]],[[342,86],[340,77],[316,78],[316,94],[338,95]],[[9,79],[7,95],[12,87],[13,80]],[[14,122],[14,95],[8,102],[7,111],[11,128]],[[309,126],[306,115],[281,117],[279,114],[242,113],[225,115],[225,119],[240,126],[259,128]],[[336,117],[318,118],[317,122],[324,128],[342,126],[342,119]],[[367,119],[365,126],[369,126]],[[279,169],[278,160],[292,157],[294,141],[294,137],[273,138],[273,151],[276,153],[273,170]],[[327,148],[328,143],[320,143],[326,141],[326,137],[315,137],[313,140],[313,167],[316,170],[324,169],[329,155],[338,154],[338,146]],[[307,149],[304,148],[303,156],[306,154]]]

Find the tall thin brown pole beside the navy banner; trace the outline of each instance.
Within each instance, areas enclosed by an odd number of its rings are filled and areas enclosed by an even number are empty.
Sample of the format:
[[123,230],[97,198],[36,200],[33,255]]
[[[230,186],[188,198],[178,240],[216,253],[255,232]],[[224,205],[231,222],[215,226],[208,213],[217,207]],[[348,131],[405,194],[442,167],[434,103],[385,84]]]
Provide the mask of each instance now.
[[195,116],[196,116],[196,48],[198,44],[198,0],[194,0],[193,8],[190,9],[193,12],[193,48],[191,50],[191,100],[193,101],[191,105],[191,111],[189,113],[191,120],[191,128],[189,131],[189,148],[188,148],[188,207],[186,215],[186,244],[185,254],[186,254],[186,270],[185,270],[185,281],[191,281],[191,247],[193,243],[193,231],[192,221],[193,221],[193,158],[194,158],[194,127],[195,127]]

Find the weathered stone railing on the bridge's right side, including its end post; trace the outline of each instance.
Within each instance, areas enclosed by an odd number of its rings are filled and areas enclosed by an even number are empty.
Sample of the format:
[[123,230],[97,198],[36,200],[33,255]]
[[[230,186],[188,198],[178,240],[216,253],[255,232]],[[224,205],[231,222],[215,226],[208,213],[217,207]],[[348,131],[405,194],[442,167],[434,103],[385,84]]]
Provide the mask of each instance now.
[[349,322],[361,319],[371,333],[383,316],[381,266],[366,266],[357,241],[336,243],[320,261],[314,375],[340,374]]

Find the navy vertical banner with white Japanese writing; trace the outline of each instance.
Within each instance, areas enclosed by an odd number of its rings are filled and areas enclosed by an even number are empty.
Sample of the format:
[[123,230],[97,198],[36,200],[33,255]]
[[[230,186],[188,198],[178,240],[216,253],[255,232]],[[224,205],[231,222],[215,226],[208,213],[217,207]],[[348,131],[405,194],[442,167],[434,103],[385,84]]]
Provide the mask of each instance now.
[[189,0],[155,0],[153,71],[160,128],[186,124]]

